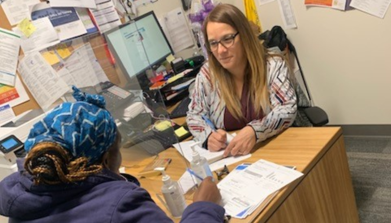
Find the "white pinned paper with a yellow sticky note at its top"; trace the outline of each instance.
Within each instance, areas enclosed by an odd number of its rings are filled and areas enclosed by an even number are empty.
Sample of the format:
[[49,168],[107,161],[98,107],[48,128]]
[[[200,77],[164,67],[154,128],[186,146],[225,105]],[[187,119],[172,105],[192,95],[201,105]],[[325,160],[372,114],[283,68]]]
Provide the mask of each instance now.
[[33,50],[43,50],[60,43],[57,32],[48,17],[34,20],[31,23],[36,27],[36,31],[29,38],[23,35],[23,32],[18,27],[13,28],[16,34],[22,36],[21,46],[25,54]]

